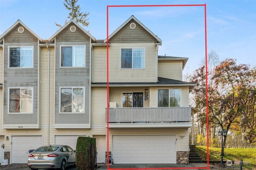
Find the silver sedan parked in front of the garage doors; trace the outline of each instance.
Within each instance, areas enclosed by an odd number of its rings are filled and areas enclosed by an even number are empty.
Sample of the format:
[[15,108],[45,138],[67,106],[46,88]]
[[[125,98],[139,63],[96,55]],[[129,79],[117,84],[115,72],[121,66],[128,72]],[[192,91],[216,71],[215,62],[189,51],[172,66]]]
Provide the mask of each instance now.
[[75,151],[67,145],[42,146],[28,155],[28,168],[38,170],[40,168],[59,168],[64,170],[66,166],[76,162]]

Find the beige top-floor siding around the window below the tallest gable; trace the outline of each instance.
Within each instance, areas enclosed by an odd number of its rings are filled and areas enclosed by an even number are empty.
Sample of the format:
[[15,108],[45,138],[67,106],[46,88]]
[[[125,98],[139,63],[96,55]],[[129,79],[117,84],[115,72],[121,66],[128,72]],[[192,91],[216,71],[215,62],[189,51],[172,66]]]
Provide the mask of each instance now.
[[[144,48],[144,69],[120,69],[122,48]],[[93,49],[93,82],[106,82],[106,47]],[[109,82],[156,82],[156,45],[155,43],[111,43],[108,49]]]

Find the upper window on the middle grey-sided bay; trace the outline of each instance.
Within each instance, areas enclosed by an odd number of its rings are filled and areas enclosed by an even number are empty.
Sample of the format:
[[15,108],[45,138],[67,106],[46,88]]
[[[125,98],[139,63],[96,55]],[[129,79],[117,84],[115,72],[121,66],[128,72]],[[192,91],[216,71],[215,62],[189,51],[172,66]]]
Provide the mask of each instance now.
[[61,66],[84,67],[85,46],[61,47]]

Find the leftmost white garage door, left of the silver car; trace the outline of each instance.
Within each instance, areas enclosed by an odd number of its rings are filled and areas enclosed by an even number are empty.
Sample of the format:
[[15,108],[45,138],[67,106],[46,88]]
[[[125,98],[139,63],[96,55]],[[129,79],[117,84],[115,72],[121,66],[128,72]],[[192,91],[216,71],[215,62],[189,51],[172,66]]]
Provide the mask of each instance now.
[[27,164],[28,150],[42,146],[42,136],[12,136],[12,164]]

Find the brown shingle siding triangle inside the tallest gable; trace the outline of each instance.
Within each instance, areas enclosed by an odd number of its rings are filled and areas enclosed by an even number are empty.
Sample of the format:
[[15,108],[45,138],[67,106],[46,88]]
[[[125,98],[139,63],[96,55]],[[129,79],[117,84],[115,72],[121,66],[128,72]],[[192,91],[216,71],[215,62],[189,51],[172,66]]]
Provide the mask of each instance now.
[[[136,28],[131,29],[130,23],[135,23]],[[132,19],[108,41],[110,43],[156,43],[157,40]]]

